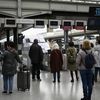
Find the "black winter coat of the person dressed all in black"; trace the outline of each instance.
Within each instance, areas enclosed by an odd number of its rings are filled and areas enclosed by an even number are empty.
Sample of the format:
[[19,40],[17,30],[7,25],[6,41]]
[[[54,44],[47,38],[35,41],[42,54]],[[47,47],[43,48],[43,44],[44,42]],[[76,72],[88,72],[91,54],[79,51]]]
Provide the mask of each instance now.
[[29,57],[31,63],[40,64],[43,61],[43,51],[38,44],[32,44],[29,50]]

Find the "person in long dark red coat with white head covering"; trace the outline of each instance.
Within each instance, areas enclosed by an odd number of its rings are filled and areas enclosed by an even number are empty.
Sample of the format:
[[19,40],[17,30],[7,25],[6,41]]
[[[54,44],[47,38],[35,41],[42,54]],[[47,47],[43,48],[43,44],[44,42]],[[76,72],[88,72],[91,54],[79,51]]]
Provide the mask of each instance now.
[[60,71],[63,65],[62,53],[59,50],[59,46],[57,43],[54,43],[52,46],[52,51],[50,54],[50,69],[51,73],[53,73],[53,82],[56,82],[56,77],[58,82],[60,82]]

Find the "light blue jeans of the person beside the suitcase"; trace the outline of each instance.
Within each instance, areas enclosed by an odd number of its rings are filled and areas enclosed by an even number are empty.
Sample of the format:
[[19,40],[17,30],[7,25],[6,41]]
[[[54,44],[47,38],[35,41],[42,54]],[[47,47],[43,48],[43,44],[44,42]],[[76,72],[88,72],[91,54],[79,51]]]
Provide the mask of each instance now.
[[4,91],[12,92],[14,75],[3,75]]

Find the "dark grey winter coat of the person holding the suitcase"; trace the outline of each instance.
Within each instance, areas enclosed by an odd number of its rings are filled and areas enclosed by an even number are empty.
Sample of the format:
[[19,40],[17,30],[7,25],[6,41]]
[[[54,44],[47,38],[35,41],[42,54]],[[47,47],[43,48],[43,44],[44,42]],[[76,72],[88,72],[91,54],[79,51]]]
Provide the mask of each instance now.
[[0,55],[2,61],[2,74],[3,75],[14,75],[17,71],[17,62],[22,63],[17,52],[11,50],[5,50]]

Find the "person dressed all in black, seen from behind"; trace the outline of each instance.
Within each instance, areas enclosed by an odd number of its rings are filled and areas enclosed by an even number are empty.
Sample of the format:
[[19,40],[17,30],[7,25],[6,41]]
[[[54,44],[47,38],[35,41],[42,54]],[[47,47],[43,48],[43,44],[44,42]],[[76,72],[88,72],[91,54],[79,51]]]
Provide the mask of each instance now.
[[37,75],[37,80],[40,79],[40,68],[43,61],[43,51],[40,45],[38,45],[38,40],[34,39],[34,43],[30,46],[29,57],[32,64],[32,80],[35,80]]

